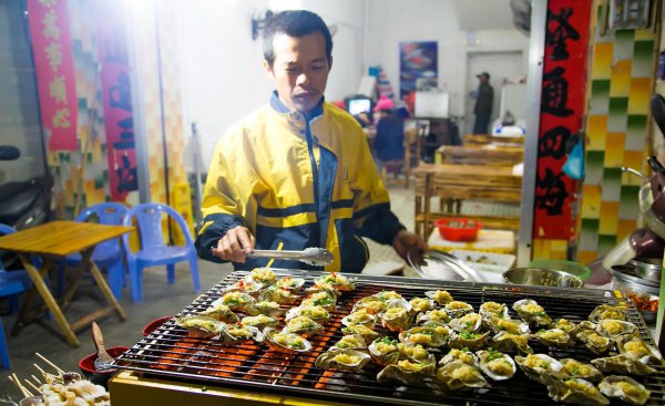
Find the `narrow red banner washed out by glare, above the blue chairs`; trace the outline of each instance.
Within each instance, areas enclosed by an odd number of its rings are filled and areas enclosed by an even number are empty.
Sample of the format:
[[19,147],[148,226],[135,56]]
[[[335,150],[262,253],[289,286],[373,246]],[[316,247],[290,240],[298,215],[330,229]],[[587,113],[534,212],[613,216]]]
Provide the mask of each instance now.
[[100,3],[98,12],[98,46],[102,62],[102,98],[109,159],[111,200],[124,201],[127,194],[139,190],[134,118],[130,91],[130,62],[121,8],[112,2]]

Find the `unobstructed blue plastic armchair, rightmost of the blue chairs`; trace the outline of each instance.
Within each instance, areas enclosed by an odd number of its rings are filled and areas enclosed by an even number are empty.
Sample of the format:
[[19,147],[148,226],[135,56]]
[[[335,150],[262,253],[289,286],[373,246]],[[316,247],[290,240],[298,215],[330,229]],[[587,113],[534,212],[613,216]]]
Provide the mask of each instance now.
[[[185,246],[167,246],[164,242],[162,233],[162,215],[171,217],[180,227],[185,236]],[[190,229],[183,217],[172,207],[162,204],[143,204],[130,209],[123,220],[123,226],[133,226],[136,219],[139,236],[141,237],[141,249],[132,252],[129,235],[122,236],[127,267],[130,269],[130,289],[132,290],[132,300],[141,302],[143,300],[143,268],[166,266],[168,283],[175,282],[175,263],[188,261],[190,272],[194,284],[194,292],[201,290],[198,281],[198,262],[194,240],[190,235]]]

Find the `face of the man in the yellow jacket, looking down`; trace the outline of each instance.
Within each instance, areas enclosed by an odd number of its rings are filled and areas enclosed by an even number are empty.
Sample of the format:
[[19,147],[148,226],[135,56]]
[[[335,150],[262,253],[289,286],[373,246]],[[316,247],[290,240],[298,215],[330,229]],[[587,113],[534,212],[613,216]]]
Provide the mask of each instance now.
[[264,61],[264,67],[275,80],[279,100],[289,110],[311,110],[324,95],[330,72],[324,34],[277,34],[273,37],[273,66]]

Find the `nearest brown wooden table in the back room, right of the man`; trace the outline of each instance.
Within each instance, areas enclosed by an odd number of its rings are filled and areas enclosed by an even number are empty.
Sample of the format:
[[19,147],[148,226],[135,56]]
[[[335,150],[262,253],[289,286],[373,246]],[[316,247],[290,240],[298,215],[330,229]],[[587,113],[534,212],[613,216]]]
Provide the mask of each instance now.
[[[432,222],[441,217],[463,217],[443,211],[432,212],[431,198],[438,196],[443,201],[490,200],[520,202],[522,196],[522,175],[514,175],[512,166],[446,165],[423,164],[413,169],[416,175],[416,216],[415,230],[428,238]],[[519,230],[519,217],[473,216],[487,228]]]

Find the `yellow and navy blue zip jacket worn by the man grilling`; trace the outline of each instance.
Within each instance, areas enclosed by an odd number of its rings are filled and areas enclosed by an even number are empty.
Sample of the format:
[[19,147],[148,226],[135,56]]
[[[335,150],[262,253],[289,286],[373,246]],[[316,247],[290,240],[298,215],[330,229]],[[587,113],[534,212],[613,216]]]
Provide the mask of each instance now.
[[[277,93],[270,103],[231,127],[218,140],[205,185],[201,258],[221,262],[212,247],[227,230],[245,226],[256,249],[325,247],[327,271],[360,272],[369,259],[360,237],[391,243],[405,227],[390,211],[388,192],[365,134],[341,108],[321,102],[306,114],[290,112]],[[234,263],[265,267],[266,259]],[[297,261],[275,268],[319,269]]]

